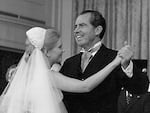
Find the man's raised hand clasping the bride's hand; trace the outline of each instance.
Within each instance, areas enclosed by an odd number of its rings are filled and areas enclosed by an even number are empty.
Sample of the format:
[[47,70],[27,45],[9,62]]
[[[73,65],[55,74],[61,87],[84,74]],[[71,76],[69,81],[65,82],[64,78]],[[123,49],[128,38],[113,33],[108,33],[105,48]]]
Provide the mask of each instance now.
[[131,58],[133,57],[133,51],[131,46],[125,45],[124,47],[122,47],[119,50],[118,55],[122,58],[121,65],[124,69],[126,69],[130,63]]

